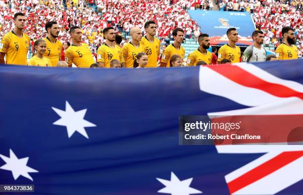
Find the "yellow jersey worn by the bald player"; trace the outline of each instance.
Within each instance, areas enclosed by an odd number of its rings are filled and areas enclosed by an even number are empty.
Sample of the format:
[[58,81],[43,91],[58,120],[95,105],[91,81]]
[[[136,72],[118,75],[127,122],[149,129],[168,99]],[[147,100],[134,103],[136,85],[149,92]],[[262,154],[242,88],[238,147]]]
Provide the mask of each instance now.
[[125,67],[133,68],[134,60],[137,59],[137,54],[145,52],[145,45],[139,43],[139,47],[136,48],[131,42],[125,44],[122,48],[123,56],[125,59]]

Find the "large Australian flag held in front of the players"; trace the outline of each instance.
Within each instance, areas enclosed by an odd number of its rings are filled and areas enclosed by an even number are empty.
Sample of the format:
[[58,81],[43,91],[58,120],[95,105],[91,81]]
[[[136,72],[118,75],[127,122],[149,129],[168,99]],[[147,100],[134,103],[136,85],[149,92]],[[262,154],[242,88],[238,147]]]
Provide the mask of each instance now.
[[2,65],[0,185],[34,185],[33,195],[302,195],[302,146],[179,146],[178,139],[180,115],[303,114],[302,84],[302,60],[119,70]]

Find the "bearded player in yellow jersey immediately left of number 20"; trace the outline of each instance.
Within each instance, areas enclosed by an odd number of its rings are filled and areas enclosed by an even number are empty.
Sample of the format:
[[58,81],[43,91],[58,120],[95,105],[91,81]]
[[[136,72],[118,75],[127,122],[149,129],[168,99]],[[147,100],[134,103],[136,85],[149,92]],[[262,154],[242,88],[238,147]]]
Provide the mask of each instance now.
[[206,64],[211,64],[212,54],[211,52],[207,51],[210,46],[209,41],[209,35],[199,35],[198,43],[200,47],[188,55],[186,66],[196,66],[197,62],[199,61],[204,61]]

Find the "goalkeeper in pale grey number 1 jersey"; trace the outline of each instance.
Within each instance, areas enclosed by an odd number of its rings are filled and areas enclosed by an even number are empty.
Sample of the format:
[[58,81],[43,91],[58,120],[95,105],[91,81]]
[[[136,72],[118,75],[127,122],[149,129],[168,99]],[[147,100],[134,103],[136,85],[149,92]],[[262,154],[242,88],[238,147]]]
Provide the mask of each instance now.
[[266,60],[266,50],[262,47],[264,35],[262,31],[253,31],[253,45],[247,47],[243,52],[243,62],[256,62]]

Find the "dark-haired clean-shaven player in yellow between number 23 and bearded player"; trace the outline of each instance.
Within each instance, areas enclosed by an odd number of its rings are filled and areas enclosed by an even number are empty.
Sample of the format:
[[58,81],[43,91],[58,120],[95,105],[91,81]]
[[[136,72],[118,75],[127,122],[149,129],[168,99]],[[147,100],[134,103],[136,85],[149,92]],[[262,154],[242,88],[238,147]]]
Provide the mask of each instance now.
[[169,61],[173,54],[180,55],[184,59],[185,49],[181,46],[184,39],[184,31],[181,28],[176,28],[173,30],[172,36],[175,41],[163,51],[160,67],[169,67]]

